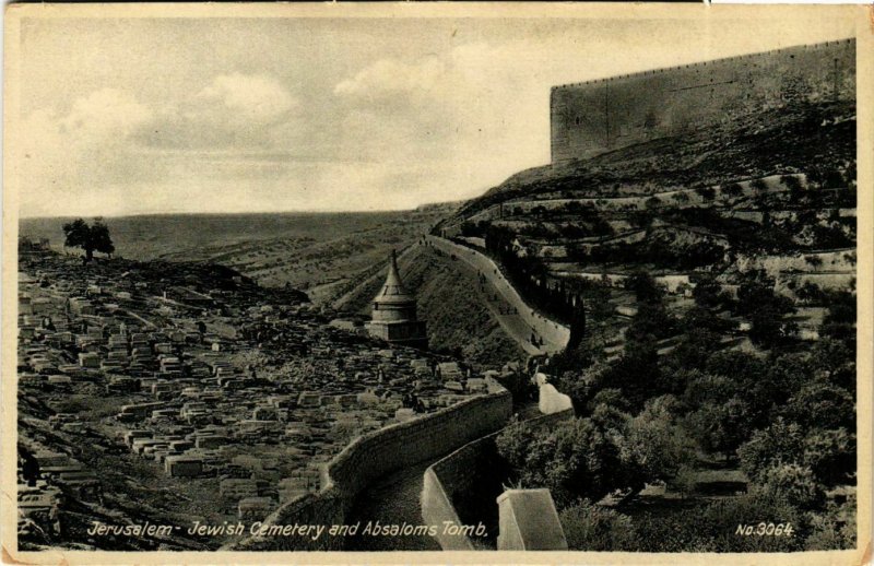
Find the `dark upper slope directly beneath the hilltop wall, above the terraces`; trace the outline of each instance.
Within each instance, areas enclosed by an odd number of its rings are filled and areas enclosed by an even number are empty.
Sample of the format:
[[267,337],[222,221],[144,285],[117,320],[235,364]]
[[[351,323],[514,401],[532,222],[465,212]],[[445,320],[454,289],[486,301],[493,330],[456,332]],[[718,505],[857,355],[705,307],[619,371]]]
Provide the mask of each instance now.
[[[521,172],[465,203],[439,227],[479,220],[500,203],[651,196],[800,173],[812,165],[846,166],[854,157],[853,103],[799,103],[590,160]],[[504,214],[512,217],[513,209],[505,208]]]

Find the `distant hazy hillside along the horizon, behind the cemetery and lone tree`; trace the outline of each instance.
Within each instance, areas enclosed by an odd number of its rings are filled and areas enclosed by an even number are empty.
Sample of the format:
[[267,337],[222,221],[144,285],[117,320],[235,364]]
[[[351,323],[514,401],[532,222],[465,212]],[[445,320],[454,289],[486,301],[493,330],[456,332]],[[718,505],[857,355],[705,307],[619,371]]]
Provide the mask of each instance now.
[[[119,256],[209,261],[261,285],[306,291],[320,303],[391,248],[409,246],[454,204],[412,211],[275,214],[166,214],[106,219]],[[60,250],[69,219],[25,219],[21,235]]]

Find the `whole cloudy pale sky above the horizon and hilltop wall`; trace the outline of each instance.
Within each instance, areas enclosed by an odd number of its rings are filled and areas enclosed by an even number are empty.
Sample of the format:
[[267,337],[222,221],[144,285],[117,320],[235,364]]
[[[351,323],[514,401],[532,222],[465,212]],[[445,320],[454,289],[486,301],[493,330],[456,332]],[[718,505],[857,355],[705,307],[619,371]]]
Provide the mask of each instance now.
[[550,89],[853,35],[811,12],[24,19],[20,215],[401,210],[550,161]]

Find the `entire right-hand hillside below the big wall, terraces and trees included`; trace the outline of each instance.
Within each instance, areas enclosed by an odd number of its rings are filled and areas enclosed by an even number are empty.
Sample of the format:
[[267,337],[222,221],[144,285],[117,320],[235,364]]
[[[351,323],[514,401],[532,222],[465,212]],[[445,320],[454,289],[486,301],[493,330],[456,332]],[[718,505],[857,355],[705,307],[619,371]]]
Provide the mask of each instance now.
[[[854,114],[789,104],[529,169],[435,227],[581,337],[540,367],[576,418],[496,439],[570,549],[855,546]],[[727,535],[751,509],[799,534]]]

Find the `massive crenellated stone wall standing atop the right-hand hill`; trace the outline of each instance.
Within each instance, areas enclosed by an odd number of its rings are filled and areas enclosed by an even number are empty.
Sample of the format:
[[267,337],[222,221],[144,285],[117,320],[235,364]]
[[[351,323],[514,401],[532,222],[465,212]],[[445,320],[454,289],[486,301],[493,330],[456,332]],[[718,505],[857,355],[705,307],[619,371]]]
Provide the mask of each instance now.
[[798,99],[855,99],[854,39],[554,86],[552,161],[588,158]]

